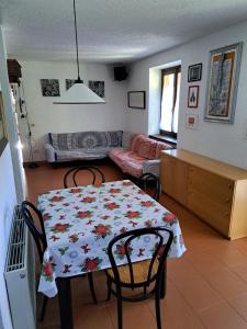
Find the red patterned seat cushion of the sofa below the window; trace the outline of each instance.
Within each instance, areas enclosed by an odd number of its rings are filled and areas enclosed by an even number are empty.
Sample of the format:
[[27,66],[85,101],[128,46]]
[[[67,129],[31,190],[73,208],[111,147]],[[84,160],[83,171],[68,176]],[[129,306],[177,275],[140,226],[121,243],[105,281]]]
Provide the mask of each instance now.
[[143,173],[143,163],[146,159],[132,150],[115,148],[110,150],[109,157],[123,170],[123,172],[134,177],[139,177]]

